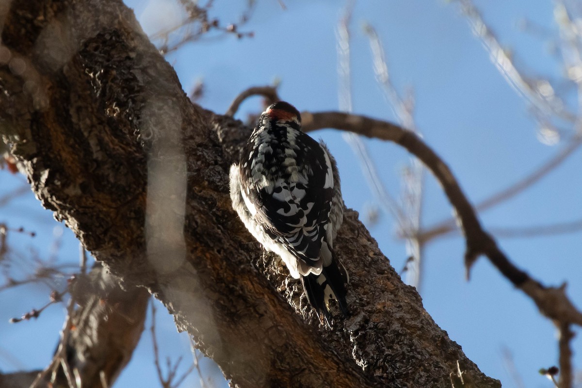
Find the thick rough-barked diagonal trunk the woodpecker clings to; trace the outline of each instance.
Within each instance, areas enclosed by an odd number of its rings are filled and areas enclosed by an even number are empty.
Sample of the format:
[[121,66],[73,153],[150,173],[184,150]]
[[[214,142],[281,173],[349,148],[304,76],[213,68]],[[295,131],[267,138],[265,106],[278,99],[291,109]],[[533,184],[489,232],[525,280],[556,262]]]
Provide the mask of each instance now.
[[0,12],[0,133],[37,197],[120,282],[164,302],[232,386],[500,386],[353,211],[336,245],[352,316],[318,327],[300,284],[230,208],[229,166],[250,129],[192,105],[121,1]]

